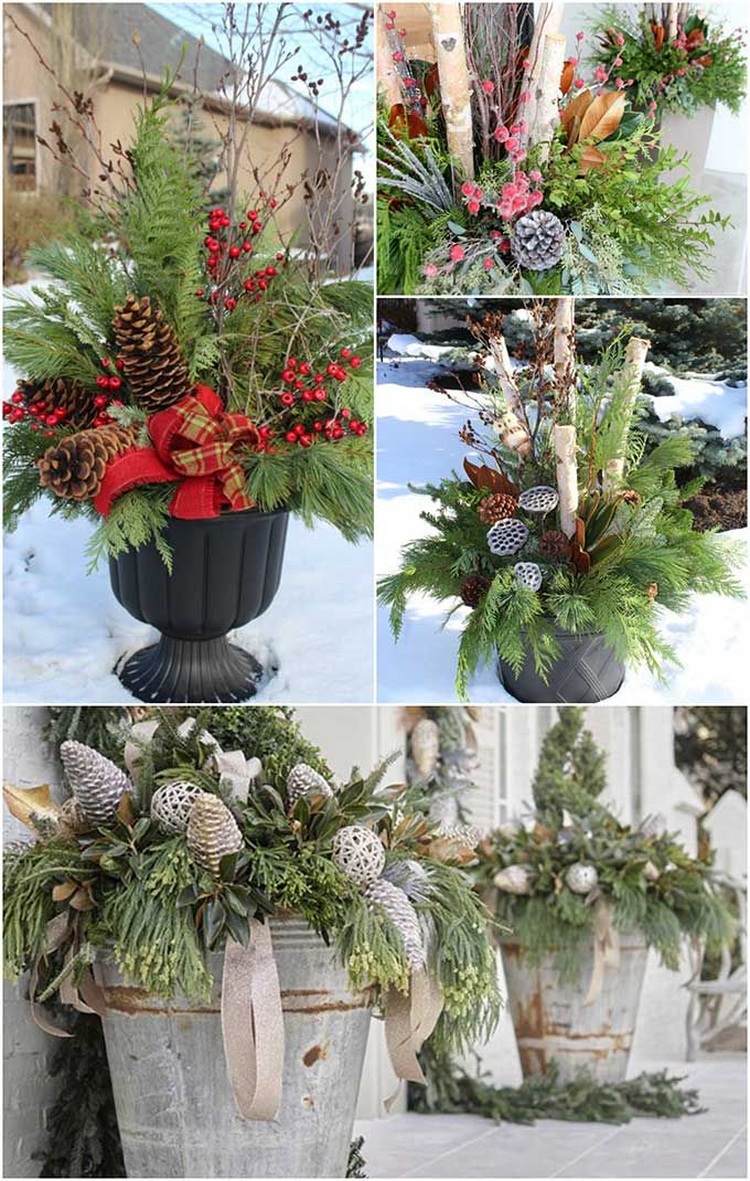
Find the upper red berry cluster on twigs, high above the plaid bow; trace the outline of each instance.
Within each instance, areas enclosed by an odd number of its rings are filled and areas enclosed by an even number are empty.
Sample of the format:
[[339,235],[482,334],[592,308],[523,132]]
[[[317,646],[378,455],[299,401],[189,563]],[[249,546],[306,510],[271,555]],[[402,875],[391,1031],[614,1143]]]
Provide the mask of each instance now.
[[[274,197],[268,202],[269,209],[276,209]],[[222,304],[226,312],[233,312],[237,300],[243,292],[254,295],[256,300],[263,299],[263,293],[278,274],[276,267],[261,267],[242,280],[237,276],[237,268],[242,263],[243,256],[252,254],[251,239],[263,229],[263,222],[257,209],[248,209],[246,221],[237,222],[233,227],[226,210],[221,205],[209,214],[209,233],[203,240],[206,250],[205,265],[209,272],[211,287],[198,287],[196,295],[198,299],[210,304]],[[283,254],[276,255],[276,261],[282,262]]]

